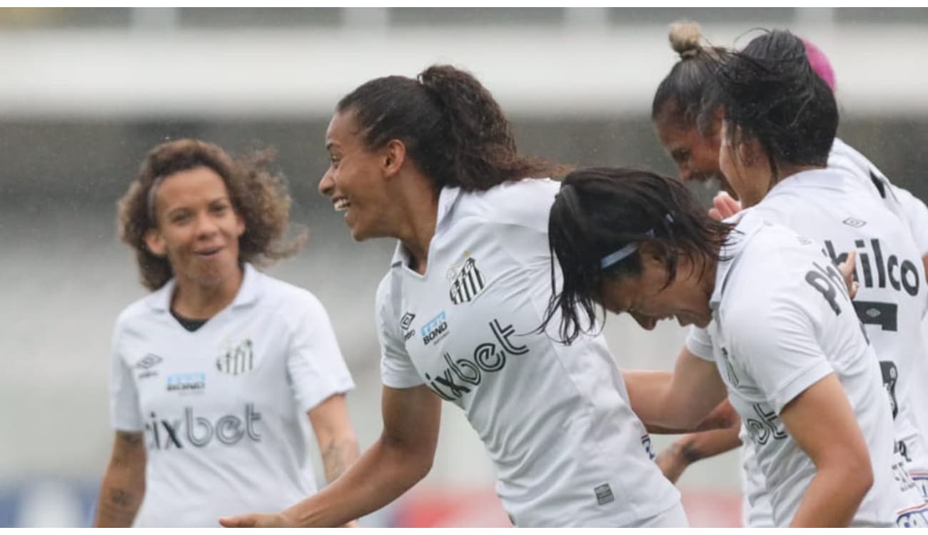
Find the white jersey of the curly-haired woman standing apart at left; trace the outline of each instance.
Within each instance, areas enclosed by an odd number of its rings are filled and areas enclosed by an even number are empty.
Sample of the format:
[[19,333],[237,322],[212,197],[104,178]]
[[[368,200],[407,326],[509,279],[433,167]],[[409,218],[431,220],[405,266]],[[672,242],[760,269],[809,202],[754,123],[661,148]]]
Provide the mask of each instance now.
[[174,280],[116,322],[113,427],[144,431],[135,527],[218,527],[316,491],[307,411],[354,388],[329,315],[308,291],[245,264],[232,304],[194,332],[169,311]]

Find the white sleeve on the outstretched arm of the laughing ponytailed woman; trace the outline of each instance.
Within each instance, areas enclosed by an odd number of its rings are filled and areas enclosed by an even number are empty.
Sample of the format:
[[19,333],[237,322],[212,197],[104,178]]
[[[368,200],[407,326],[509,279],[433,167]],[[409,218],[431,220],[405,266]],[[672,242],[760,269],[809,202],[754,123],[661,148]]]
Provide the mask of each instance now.
[[410,389],[424,384],[419,372],[406,352],[400,319],[393,310],[390,291],[392,275],[387,274],[377,288],[377,338],[380,341],[380,376],[384,386],[391,389]]

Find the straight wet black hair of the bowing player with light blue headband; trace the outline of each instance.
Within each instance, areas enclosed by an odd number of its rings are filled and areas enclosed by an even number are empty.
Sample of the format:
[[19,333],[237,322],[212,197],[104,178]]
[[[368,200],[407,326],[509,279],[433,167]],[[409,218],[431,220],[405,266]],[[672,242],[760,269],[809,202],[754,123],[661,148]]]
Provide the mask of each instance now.
[[[625,168],[589,168],[569,173],[548,220],[551,298],[539,330],[560,312],[560,340],[589,332],[604,312],[601,283],[641,274],[642,243],[653,246],[667,268],[669,286],[677,261],[688,258],[704,270],[721,260],[732,225],[713,220],[685,185],[660,174]],[[634,244],[622,260],[603,259]],[[557,259],[563,282],[557,287]]]

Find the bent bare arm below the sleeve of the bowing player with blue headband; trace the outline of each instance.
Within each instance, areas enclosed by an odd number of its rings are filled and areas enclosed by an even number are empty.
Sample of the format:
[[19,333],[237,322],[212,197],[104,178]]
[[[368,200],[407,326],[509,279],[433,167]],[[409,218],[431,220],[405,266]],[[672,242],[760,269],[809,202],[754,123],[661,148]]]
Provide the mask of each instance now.
[[799,394],[783,408],[780,420],[816,467],[790,526],[849,525],[873,485],[873,468],[838,377],[826,376]]

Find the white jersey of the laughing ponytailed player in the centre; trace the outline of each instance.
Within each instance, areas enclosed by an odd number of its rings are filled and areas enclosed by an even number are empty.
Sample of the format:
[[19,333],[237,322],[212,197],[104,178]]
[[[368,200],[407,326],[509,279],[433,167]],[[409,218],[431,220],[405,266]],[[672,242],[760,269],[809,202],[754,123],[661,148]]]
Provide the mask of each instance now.
[[398,245],[380,283],[383,383],[428,385],[467,414],[513,524],[637,526],[679,493],[652,461],[604,339],[553,341],[560,316],[533,332],[551,293],[558,190],[542,179],[442,190],[428,272],[410,270]]

